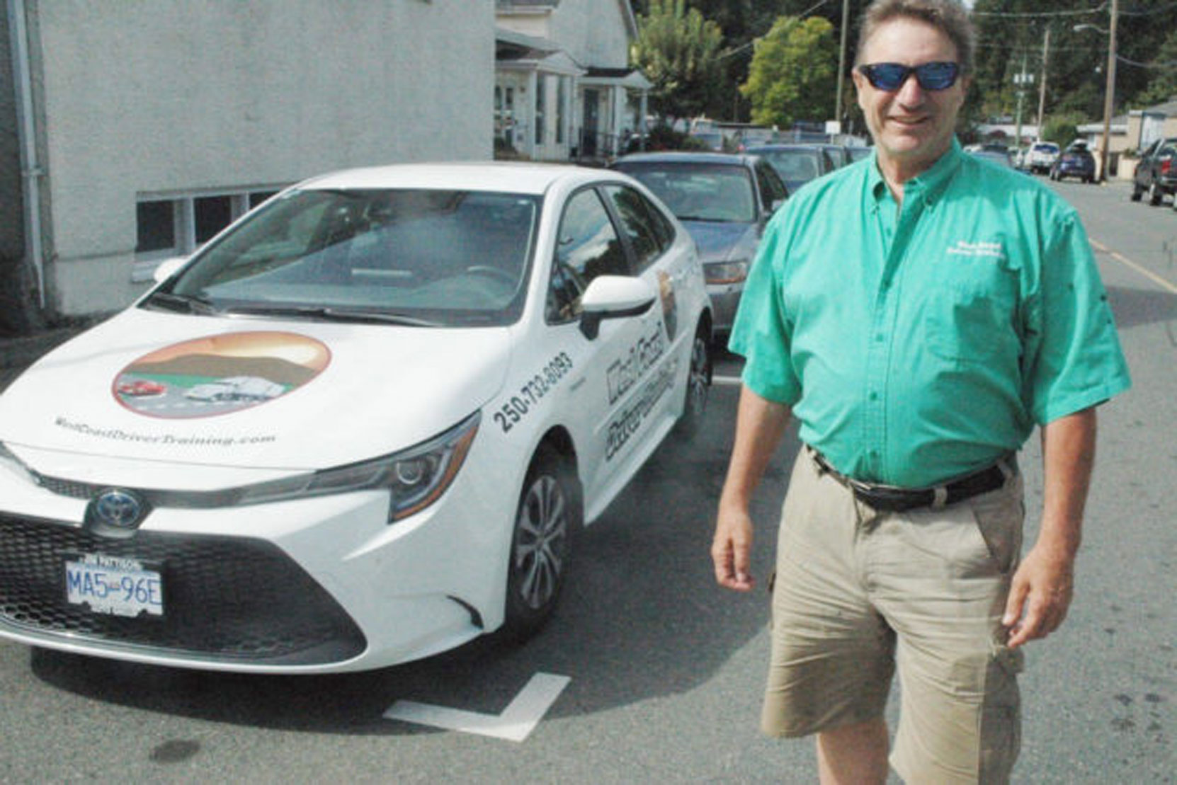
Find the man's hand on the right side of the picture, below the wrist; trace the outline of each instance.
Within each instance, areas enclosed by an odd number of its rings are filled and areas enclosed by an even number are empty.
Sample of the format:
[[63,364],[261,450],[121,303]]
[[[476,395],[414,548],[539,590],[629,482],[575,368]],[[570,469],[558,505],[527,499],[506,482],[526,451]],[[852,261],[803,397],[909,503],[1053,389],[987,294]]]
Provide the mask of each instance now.
[[1075,559],[1035,547],[1013,573],[1002,624],[1010,628],[1006,645],[1017,648],[1055,632],[1071,605]]

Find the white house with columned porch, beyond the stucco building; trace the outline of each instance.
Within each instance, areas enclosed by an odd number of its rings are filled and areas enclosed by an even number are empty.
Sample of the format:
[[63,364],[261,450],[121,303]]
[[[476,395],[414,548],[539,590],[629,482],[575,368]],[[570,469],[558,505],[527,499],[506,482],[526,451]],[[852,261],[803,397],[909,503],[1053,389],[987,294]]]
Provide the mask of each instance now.
[[494,131],[538,160],[593,159],[638,133],[652,87],[629,67],[629,0],[496,0]]

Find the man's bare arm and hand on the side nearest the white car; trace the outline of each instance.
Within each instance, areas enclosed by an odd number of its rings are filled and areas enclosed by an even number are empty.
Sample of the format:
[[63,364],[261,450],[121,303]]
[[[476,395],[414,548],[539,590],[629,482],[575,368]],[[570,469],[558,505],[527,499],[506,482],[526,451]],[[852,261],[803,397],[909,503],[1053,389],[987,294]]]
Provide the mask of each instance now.
[[711,560],[720,586],[746,592],[754,585],[750,568],[752,492],[780,445],[791,413],[784,404],[760,398],[747,387],[740,390],[736,440],[711,545]]

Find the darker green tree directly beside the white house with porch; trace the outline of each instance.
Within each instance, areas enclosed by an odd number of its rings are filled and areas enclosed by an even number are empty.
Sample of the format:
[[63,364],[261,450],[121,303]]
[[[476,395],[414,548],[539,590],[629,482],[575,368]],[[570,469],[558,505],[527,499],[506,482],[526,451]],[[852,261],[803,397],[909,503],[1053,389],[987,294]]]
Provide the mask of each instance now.
[[650,0],[638,16],[638,38],[630,52],[634,67],[654,87],[651,106],[663,117],[687,118],[714,102],[722,84],[723,33],[686,0]]

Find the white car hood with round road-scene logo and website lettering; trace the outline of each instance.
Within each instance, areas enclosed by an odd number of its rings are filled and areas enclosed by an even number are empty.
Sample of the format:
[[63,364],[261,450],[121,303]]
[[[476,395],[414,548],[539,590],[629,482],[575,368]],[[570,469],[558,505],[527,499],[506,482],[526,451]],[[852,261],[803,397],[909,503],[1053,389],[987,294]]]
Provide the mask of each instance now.
[[0,441],[109,459],[312,470],[412,446],[501,387],[506,327],[127,311],[0,395]]

